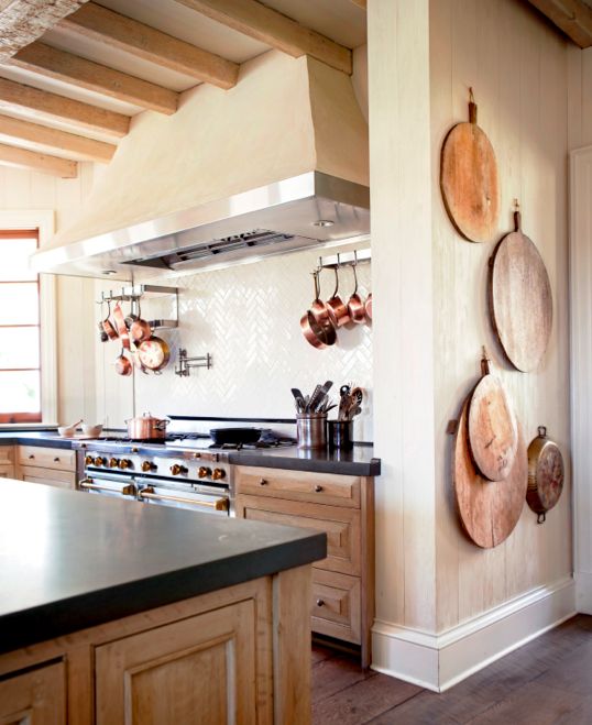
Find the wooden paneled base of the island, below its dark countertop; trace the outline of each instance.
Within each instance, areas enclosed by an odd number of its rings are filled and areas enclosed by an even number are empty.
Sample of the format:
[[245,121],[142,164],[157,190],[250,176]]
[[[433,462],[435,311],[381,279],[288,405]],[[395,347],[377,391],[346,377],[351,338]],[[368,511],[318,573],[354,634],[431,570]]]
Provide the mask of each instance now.
[[310,722],[310,565],[0,656],[0,723]]

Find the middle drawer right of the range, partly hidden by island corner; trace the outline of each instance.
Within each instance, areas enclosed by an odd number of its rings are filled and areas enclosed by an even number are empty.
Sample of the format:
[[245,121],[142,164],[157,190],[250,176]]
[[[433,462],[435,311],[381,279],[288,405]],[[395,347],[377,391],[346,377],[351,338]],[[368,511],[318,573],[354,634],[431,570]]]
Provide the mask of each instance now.
[[273,498],[237,496],[237,516],[255,521],[297,526],[327,534],[327,558],[314,567],[360,574],[360,512]]

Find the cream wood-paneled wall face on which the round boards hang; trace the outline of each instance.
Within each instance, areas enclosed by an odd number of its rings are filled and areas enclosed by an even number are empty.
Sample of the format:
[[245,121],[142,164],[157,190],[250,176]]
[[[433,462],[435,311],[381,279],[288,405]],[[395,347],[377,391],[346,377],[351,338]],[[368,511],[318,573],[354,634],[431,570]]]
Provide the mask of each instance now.
[[[579,51],[578,51],[579,52]],[[568,320],[568,42],[518,0],[431,0],[431,188],[437,516],[437,629],[445,630],[537,585],[569,575],[571,560]],[[469,87],[479,123],[497,155],[501,216],[495,240],[464,241],[439,189],[442,141],[468,120]],[[487,262],[512,230],[520,200],[523,228],[537,245],[553,293],[547,354],[533,373],[505,360],[489,321]],[[545,425],[568,464],[563,495],[537,526],[525,506],[504,542],[481,550],[462,535],[452,497],[448,420],[479,377],[481,347],[505,384],[527,441]]]

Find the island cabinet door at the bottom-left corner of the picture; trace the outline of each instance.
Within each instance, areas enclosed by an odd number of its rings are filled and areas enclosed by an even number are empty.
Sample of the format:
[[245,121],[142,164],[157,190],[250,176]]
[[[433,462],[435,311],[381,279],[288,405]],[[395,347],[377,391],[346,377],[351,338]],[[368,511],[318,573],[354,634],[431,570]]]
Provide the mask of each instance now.
[[0,682],[1,725],[64,725],[66,675],[63,662]]

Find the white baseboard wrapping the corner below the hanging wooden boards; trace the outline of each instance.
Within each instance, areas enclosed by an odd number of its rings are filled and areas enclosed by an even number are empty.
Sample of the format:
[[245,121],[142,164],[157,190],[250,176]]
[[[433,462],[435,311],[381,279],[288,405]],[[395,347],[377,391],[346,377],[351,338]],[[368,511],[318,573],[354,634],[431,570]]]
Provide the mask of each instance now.
[[[592,576],[590,584],[592,593]],[[372,669],[443,692],[575,612],[575,583],[569,576],[537,586],[439,635],[376,620]]]

